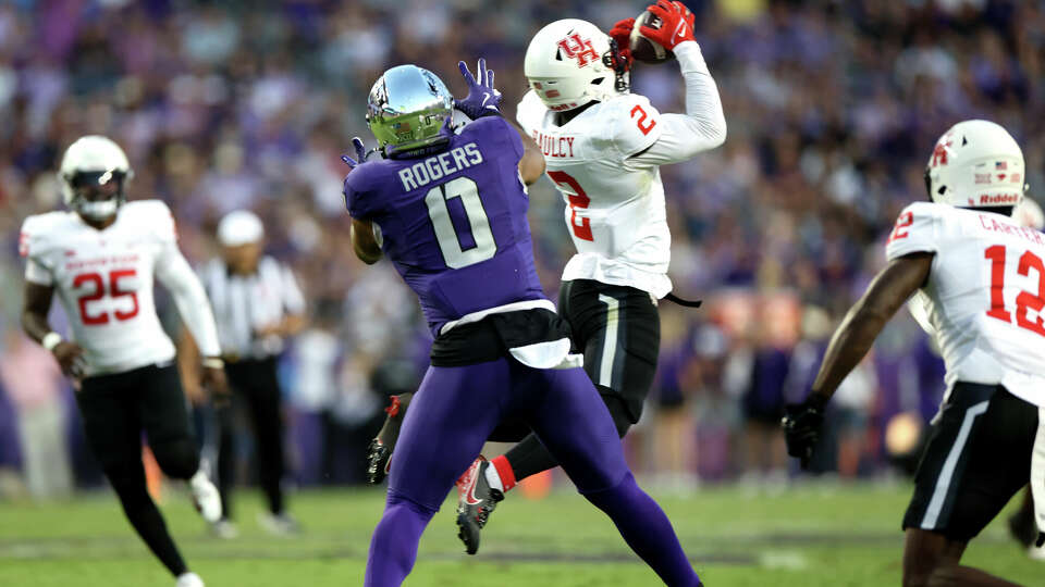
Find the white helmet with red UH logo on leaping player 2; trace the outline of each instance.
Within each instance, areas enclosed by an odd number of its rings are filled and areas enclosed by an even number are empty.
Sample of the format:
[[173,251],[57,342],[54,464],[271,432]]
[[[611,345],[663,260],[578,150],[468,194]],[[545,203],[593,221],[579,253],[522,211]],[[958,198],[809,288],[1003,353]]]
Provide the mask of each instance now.
[[628,91],[627,65],[615,45],[588,21],[555,21],[533,36],[524,72],[549,110],[607,100]]

